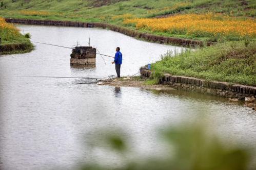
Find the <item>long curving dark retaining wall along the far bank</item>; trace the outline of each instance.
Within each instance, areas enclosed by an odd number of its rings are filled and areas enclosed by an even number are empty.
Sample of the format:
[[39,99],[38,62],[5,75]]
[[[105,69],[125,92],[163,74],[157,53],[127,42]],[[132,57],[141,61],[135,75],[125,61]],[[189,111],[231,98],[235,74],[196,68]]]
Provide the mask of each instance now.
[[[183,38],[173,38],[165,36],[156,36],[147,33],[141,33],[135,30],[131,30],[121,26],[111,25],[109,23],[91,23],[91,22],[75,22],[75,21],[56,21],[56,20],[36,20],[36,19],[14,19],[5,18],[7,22],[21,23],[27,25],[42,25],[42,26],[65,26],[65,27],[86,27],[86,28],[108,28],[112,31],[119,32],[131,37],[142,38],[144,40],[160,42],[160,43],[171,43],[182,46],[203,46],[203,41],[189,40]],[[214,42],[207,42],[208,45],[212,45]]]

